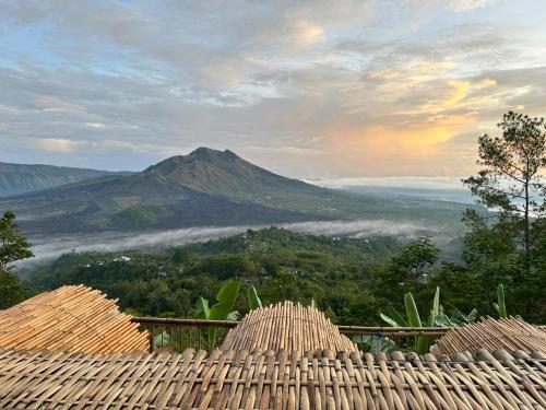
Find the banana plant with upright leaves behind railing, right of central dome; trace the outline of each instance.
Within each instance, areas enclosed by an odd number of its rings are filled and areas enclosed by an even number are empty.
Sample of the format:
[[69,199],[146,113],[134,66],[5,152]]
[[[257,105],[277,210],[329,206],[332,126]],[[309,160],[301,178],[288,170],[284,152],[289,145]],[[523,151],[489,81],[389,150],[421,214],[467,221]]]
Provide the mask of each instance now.
[[[404,305],[406,309],[406,318],[404,318],[395,308],[391,307],[388,316],[383,313],[380,314],[381,318],[393,327],[424,327],[420,320],[419,312],[415,305],[415,300],[412,292],[404,295]],[[438,326],[437,319],[441,312],[440,308],[440,288],[436,288],[435,298],[432,301],[432,306],[430,308],[428,319],[425,324],[427,327]],[[418,354],[428,353],[430,344],[432,344],[434,338],[426,336],[418,336],[415,338],[415,352]]]

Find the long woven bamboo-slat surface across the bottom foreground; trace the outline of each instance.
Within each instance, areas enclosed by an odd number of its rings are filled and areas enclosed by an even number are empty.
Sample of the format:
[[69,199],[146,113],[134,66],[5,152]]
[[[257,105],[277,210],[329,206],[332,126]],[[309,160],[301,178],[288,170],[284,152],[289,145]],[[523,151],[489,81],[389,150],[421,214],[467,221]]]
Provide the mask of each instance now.
[[0,349],[0,408],[545,409],[546,356]]

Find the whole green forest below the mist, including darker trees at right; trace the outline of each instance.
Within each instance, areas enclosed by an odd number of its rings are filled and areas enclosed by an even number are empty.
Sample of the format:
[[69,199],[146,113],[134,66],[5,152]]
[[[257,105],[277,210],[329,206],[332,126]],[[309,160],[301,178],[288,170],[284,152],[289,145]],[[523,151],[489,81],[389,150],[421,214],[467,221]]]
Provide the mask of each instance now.
[[[136,316],[195,317],[201,296],[213,301],[225,282],[239,279],[256,286],[263,304],[313,300],[336,324],[380,326],[380,312],[404,309],[406,292],[427,312],[437,286],[447,314],[460,317],[476,308],[495,316],[502,283],[509,313],[544,323],[544,261],[542,272],[524,285],[515,280],[518,263],[510,255],[492,256],[483,274],[475,239],[468,236],[465,261],[454,263],[440,261],[439,249],[426,237],[402,244],[271,227],[165,251],[66,254],[37,269],[29,285],[38,292],[84,283],[119,298],[121,308]],[[236,305],[240,314],[248,309],[245,298],[241,294]]]

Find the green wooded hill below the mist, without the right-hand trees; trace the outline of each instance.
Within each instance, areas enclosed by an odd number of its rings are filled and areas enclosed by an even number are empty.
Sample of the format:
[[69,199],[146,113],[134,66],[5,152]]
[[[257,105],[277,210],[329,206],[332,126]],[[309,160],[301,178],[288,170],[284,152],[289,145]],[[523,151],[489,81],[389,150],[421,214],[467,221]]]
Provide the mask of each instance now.
[[31,284],[43,291],[84,283],[138,315],[192,317],[200,296],[212,300],[226,280],[238,278],[259,288],[264,303],[313,297],[340,320],[368,314],[372,323],[373,300],[363,295],[373,272],[401,247],[393,238],[334,239],[266,229],[166,251],[69,253],[34,270]]

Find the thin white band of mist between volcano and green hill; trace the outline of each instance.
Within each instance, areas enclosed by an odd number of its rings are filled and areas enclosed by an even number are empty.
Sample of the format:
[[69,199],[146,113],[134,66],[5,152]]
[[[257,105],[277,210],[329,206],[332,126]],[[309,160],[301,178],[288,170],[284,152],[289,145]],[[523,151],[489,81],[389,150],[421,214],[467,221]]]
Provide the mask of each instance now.
[[[140,248],[164,248],[217,239],[244,233],[249,229],[258,230],[268,226],[199,226],[141,234],[111,232],[93,235],[32,237],[31,242],[33,243],[35,257],[21,261],[19,267],[26,267],[35,262],[54,259],[71,251],[117,251]],[[434,236],[438,234],[438,231],[415,223],[384,220],[311,221],[280,224],[277,226],[299,233],[355,238],[371,236],[413,237],[416,235]]]

